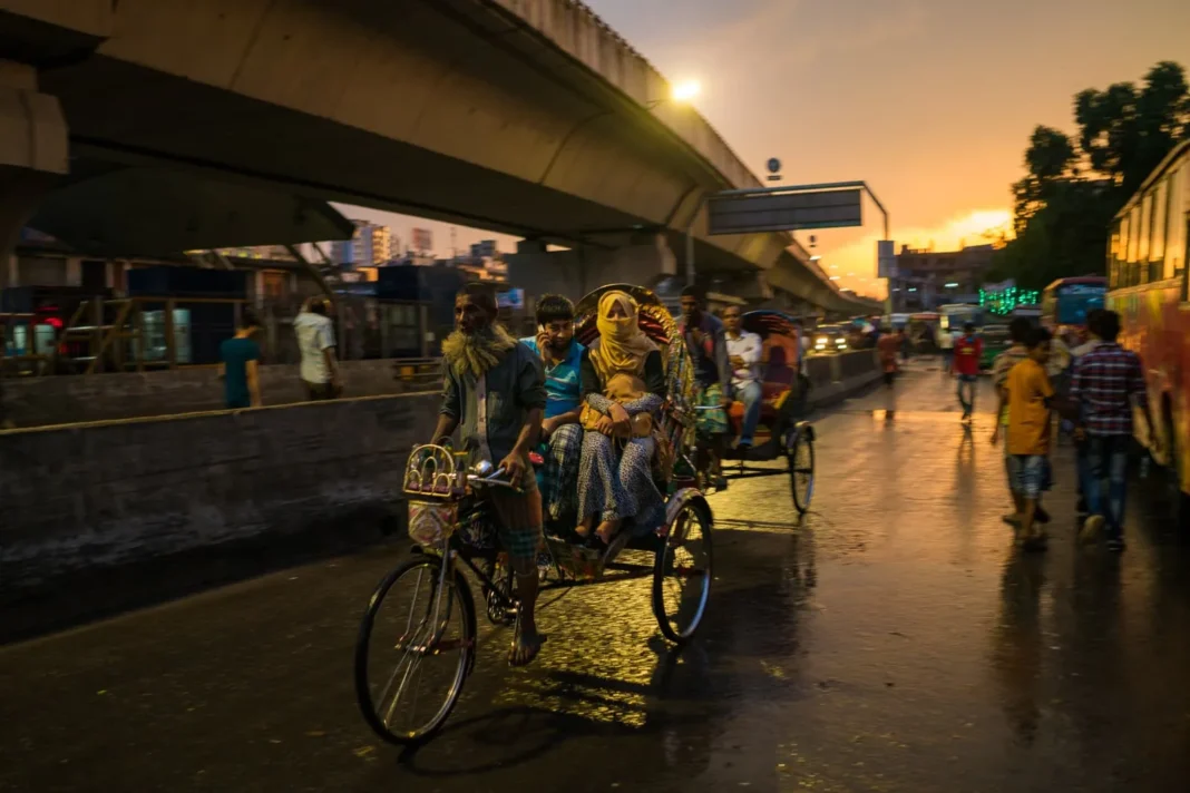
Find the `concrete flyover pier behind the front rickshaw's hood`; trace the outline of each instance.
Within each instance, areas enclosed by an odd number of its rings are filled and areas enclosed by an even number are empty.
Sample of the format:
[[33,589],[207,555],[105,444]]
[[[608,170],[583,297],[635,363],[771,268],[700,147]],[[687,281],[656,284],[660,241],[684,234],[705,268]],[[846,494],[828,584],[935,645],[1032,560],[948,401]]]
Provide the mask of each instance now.
[[615,248],[584,245],[564,251],[549,251],[544,243],[522,240],[506,260],[513,287],[527,295],[565,295],[574,301],[603,284],[652,288],[662,278],[677,275],[677,257],[662,234]]

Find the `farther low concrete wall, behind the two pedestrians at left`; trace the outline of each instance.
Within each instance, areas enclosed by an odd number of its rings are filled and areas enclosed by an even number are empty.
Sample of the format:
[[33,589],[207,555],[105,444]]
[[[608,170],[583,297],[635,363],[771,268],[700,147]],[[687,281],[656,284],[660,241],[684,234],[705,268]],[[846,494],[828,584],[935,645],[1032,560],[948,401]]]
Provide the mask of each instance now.
[[[426,388],[416,379],[397,379],[392,359],[346,360],[340,367],[345,397],[405,394]],[[2,389],[5,416],[17,427],[169,416],[224,407],[224,384],[213,366],[6,378]],[[261,398],[265,405],[305,401],[299,367],[261,366]]]

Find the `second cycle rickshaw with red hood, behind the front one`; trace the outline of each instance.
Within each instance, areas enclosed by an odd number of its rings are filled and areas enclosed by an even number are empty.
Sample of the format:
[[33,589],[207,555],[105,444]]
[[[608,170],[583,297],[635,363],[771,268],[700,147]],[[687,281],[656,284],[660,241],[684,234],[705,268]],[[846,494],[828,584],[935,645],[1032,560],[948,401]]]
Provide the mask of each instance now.
[[[781,476],[785,471],[749,464],[784,459],[794,506],[804,515],[814,497],[814,427],[801,418],[806,414],[809,380],[797,367],[801,357],[798,331],[794,317],[777,310],[749,311],[740,321],[745,331],[759,335],[764,342],[760,359],[763,402],[757,430],[757,440],[764,440],[746,453],[724,451],[721,473],[727,480]],[[732,434],[738,436],[744,405],[735,402],[728,418]]]

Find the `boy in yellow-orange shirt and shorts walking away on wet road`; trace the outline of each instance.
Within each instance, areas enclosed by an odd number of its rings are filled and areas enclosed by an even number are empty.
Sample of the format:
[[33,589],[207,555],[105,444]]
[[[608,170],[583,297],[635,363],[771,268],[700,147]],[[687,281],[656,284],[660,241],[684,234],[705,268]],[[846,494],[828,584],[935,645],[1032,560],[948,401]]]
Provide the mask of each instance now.
[[[1008,467],[1013,502],[1020,521],[1021,545],[1028,550],[1045,550],[1045,531],[1035,527],[1041,493],[1050,489],[1050,448],[1053,439],[1054,391],[1046,375],[1050,359],[1050,332],[1034,328],[1026,341],[1028,358],[1008,372],[1001,390],[1001,409],[1008,405]],[[1000,441],[1000,426],[991,442]]]

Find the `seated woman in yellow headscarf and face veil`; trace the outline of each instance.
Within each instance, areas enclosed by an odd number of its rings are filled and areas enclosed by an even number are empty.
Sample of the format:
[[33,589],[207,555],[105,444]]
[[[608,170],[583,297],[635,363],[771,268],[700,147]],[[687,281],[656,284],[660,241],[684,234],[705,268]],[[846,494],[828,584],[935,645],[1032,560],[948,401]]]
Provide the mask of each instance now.
[[652,528],[664,511],[652,477],[651,429],[665,401],[665,364],[640,329],[638,313],[627,292],[605,294],[596,317],[600,335],[581,369],[587,433],[576,530],[602,545],[610,543],[625,518]]

